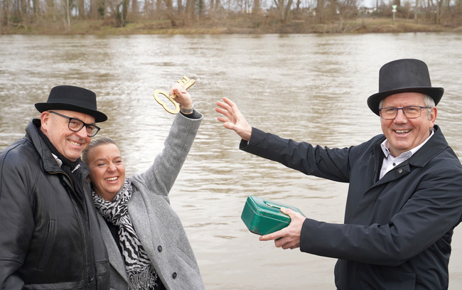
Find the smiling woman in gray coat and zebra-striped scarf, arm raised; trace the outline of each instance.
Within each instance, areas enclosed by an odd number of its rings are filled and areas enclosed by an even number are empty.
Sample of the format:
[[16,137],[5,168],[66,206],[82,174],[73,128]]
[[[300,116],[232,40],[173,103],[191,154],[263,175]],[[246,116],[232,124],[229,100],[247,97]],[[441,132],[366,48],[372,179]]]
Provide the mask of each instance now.
[[113,289],[205,289],[193,249],[168,199],[203,116],[192,108],[182,85],[174,85],[172,94],[181,114],[146,172],[126,178],[119,148],[107,137],[93,140],[82,155],[90,167]]

